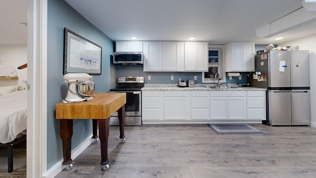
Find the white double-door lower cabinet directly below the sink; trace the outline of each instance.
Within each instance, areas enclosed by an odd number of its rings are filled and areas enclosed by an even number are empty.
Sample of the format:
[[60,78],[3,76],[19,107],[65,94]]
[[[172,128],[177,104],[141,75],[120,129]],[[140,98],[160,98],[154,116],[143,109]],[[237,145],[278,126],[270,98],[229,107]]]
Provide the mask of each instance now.
[[211,120],[245,120],[246,91],[211,91]]

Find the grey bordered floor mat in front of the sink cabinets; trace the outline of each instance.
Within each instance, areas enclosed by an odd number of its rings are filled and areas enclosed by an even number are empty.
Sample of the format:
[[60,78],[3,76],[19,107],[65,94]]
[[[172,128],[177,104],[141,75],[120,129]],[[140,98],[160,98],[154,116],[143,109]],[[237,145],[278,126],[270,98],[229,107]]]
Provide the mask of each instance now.
[[207,124],[216,134],[264,134],[247,124]]

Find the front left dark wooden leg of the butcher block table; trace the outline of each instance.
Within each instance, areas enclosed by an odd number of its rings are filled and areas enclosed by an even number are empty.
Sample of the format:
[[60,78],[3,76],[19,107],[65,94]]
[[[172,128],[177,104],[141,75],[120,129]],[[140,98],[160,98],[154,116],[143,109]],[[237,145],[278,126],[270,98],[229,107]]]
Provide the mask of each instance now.
[[71,159],[71,137],[73,136],[73,120],[60,120],[60,138],[63,142],[63,165],[68,165],[73,162]]

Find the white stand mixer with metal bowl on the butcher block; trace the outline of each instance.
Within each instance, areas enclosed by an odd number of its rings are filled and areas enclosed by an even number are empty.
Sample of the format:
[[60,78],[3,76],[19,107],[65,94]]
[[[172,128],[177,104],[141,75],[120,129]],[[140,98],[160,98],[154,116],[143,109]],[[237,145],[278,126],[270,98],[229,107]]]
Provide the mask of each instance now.
[[69,83],[67,96],[63,103],[88,101],[93,99],[91,94],[94,91],[92,76],[86,73],[69,73],[64,75],[65,83]]

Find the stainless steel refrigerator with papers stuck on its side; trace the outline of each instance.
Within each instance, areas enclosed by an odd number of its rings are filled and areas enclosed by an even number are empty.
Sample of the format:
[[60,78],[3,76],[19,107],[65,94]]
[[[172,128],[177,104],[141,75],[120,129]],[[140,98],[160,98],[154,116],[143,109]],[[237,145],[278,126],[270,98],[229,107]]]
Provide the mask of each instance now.
[[[271,126],[311,125],[310,57],[308,50],[257,54],[258,79],[252,87],[267,89],[267,121]],[[261,81],[262,80],[262,81]]]

